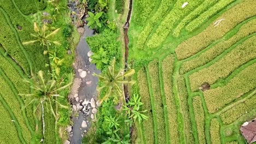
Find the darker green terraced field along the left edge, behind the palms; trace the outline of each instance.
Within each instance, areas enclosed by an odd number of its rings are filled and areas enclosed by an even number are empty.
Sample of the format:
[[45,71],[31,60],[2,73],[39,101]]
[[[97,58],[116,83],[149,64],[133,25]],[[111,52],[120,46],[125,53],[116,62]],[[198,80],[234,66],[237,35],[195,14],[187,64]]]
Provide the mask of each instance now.
[[[19,94],[29,94],[30,85],[24,79],[37,71],[48,71],[43,55],[43,47],[22,45],[32,40],[33,19],[31,14],[45,8],[44,1],[4,1],[0,0],[0,143],[35,143],[42,136],[41,121],[33,113],[34,107],[27,98]],[[36,6],[35,6],[36,5]],[[44,143],[55,143],[55,123],[53,116],[45,115],[46,133]]]

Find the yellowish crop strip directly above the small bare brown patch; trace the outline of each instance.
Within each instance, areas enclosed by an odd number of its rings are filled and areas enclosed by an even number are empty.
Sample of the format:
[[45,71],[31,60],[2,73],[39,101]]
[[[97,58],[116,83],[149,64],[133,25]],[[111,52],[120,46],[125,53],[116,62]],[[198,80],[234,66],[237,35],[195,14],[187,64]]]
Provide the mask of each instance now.
[[208,82],[211,85],[219,79],[225,79],[232,73],[232,71],[256,58],[255,40],[256,36],[247,39],[229,53],[226,51],[225,53],[227,54],[223,58],[216,59],[217,62],[209,67],[206,65],[205,68],[189,75],[191,90],[196,91],[203,82]]

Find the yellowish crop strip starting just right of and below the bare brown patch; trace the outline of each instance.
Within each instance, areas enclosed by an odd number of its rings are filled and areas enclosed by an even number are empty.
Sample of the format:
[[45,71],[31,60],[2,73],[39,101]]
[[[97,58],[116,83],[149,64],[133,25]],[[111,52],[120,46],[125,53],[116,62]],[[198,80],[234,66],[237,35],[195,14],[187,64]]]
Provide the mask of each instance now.
[[208,111],[214,113],[255,88],[256,76],[253,72],[255,70],[256,64],[254,63],[236,74],[225,86],[203,92]]

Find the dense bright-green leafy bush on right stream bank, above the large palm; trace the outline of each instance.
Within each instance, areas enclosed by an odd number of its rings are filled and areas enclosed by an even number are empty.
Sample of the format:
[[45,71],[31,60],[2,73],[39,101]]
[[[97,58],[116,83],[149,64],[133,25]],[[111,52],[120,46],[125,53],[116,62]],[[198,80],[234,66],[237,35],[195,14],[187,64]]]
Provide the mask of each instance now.
[[[117,61],[119,61],[119,52],[120,52],[120,41],[118,40],[118,34],[114,31],[110,31],[109,29],[105,29],[102,33],[97,34],[93,37],[88,37],[86,39],[87,43],[89,44],[91,51],[94,52],[94,55],[102,58],[102,53],[104,54],[104,62],[107,62],[105,64],[103,61],[97,61],[95,59],[92,59],[94,61],[99,62],[101,65],[97,66],[97,68],[103,70],[107,68],[107,66],[110,63],[110,59],[113,59],[115,57]],[[105,54],[106,53],[106,54]],[[94,56],[92,56],[94,57]],[[100,59],[99,58],[99,59]]]

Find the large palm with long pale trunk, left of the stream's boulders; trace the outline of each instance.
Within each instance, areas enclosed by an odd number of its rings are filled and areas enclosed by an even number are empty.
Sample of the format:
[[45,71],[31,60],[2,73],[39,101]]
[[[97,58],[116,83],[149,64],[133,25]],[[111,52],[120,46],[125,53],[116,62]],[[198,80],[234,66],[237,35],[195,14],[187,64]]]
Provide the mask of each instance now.
[[[31,88],[33,89],[32,94],[19,94],[19,95],[25,95],[26,97],[32,97],[30,103],[28,103],[26,106],[32,104],[36,105],[36,109],[34,109],[34,113],[36,113],[37,110],[42,110],[42,121],[43,121],[43,134],[44,134],[44,103],[46,106],[46,109],[53,113],[55,119],[57,119],[57,113],[55,113],[53,109],[53,103],[60,105],[61,107],[68,109],[68,106],[60,104],[57,100],[54,99],[54,97],[62,97],[58,92],[61,89],[64,89],[71,85],[71,83],[68,83],[68,85],[59,87],[57,85],[57,82],[55,80],[46,80],[45,74],[42,70],[38,71],[37,75],[34,76],[33,81],[30,80],[24,80],[25,82],[30,83]],[[25,107],[26,107],[25,106]],[[25,109],[24,107],[24,109]],[[42,109],[39,109],[41,107]],[[41,113],[41,112],[40,112]]]

